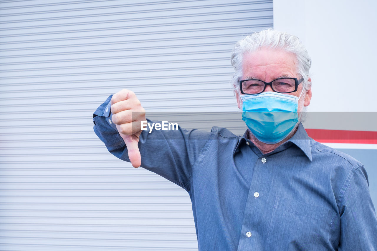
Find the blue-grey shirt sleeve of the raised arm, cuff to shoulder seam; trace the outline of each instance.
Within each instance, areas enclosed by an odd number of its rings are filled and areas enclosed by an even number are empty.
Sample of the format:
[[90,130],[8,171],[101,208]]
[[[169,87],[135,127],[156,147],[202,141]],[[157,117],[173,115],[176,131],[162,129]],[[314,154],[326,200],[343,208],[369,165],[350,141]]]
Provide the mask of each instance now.
[[[119,159],[130,161],[126,144],[111,120],[110,99],[111,96],[93,114],[94,131],[110,153]],[[192,165],[200,156],[210,135],[210,132],[188,131],[179,126],[174,130],[142,130],[138,142],[141,167],[188,190]]]

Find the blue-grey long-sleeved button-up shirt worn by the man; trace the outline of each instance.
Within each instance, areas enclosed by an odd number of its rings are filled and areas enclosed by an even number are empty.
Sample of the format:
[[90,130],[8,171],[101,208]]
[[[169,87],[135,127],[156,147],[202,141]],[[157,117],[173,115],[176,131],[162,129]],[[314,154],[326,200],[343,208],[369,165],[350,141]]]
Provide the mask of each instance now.
[[[94,131],[129,161],[109,122],[110,98],[93,115]],[[189,193],[199,250],[377,250],[365,168],[309,138],[301,124],[267,154],[247,132],[219,127],[143,131],[139,150],[142,167]]]

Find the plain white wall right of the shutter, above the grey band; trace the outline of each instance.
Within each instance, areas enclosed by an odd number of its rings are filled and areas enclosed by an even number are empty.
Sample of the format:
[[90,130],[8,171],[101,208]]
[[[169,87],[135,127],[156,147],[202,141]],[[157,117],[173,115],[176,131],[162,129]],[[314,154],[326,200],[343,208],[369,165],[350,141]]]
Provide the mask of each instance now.
[[377,1],[274,0],[273,8],[274,29],[297,35],[311,55],[308,111],[377,112]]

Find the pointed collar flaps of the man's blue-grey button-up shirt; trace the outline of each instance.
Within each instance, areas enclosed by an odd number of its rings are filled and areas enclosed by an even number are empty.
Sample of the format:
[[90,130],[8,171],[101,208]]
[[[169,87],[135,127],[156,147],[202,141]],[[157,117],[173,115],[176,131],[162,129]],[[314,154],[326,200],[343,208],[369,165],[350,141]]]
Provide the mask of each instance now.
[[[245,144],[244,142],[249,138],[249,130],[247,129],[244,135],[239,139],[236,148],[234,149],[233,155],[238,151],[241,144]],[[300,150],[305,153],[308,159],[311,161],[311,147],[310,147],[310,138],[305,131],[303,125],[299,124],[297,127],[296,133],[290,138],[287,142],[292,142],[295,144]],[[253,144],[253,143],[250,143]]]

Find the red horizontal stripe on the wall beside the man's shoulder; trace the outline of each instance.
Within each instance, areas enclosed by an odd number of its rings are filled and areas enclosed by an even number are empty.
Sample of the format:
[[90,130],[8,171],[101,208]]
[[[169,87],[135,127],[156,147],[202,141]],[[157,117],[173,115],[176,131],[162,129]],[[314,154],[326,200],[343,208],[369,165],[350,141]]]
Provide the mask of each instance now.
[[377,132],[305,129],[309,137],[322,143],[377,144]]

